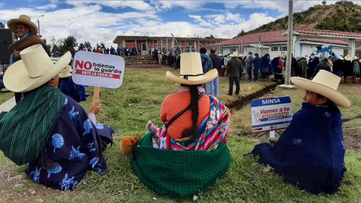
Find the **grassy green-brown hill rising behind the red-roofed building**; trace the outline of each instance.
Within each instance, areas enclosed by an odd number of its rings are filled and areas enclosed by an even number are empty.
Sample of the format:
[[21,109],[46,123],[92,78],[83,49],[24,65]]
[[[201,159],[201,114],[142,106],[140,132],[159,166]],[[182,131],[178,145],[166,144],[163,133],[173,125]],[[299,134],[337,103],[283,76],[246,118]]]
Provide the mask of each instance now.
[[[288,16],[250,30],[245,34],[287,29]],[[351,1],[331,5],[316,5],[303,12],[293,13],[293,27],[337,30],[361,33],[361,6]]]

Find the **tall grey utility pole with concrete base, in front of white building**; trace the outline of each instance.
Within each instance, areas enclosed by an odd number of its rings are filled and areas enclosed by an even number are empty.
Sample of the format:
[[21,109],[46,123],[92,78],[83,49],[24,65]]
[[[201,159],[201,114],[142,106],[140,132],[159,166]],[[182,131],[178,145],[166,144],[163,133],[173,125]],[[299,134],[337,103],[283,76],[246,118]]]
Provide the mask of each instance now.
[[293,47],[293,1],[288,1],[288,34],[287,34],[287,60],[286,60],[286,78],[282,87],[294,87],[291,85],[291,62]]

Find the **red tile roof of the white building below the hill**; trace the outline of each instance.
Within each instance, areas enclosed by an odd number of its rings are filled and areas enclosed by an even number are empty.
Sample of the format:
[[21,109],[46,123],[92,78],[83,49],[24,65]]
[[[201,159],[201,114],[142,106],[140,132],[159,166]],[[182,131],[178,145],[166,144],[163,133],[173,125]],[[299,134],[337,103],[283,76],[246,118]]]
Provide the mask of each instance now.
[[[345,36],[346,34],[350,34],[353,36],[360,35],[361,33],[347,33],[347,32],[339,32],[339,31],[329,31],[329,30],[313,30],[313,29],[304,29],[304,28],[294,28],[293,29],[296,32],[304,32],[304,31],[317,31],[319,34],[325,34],[327,32],[334,32],[334,33],[343,33],[343,35],[339,34],[339,36]],[[251,33],[247,35],[243,35],[238,37],[243,44],[254,44],[258,43],[258,38],[261,36],[261,43],[267,43],[267,42],[287,42],[287,37],[282,36],[284,32],[287,30],[274,30],[274,31],[267,31],[267,32],[261,32],[261,33]],[[335,34],[336,35],[336,34]],[[310,42],[321,42],[321,43],[328,43],[328,44],[339,44],[339,45],[348,45],[348,42],[338,39],[316,39],[316,38],[303,38]],[[239,40],[236,38],[224,40],[222,42],[219,42],[221,46],[225,45],[232,45],[232,44],[240,44]],[[218,47],[217,43],[208,44],[205,47]]]

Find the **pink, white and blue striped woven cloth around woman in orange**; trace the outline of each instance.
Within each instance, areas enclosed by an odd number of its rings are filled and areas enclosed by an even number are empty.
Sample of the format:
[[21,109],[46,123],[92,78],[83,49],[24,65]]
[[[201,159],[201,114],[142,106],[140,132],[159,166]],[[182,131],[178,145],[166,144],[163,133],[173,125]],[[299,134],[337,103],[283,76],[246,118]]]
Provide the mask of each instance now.
[[219,143],[226,142],[230,126],[231,114],[229,109],[216,97],[209,96],[209,113],[204,117],[197,133],[196,139],[191,137],[171,139],[166,134],[166,123],[160,128],[152,139],[153,147],[167,150],[216,150]]

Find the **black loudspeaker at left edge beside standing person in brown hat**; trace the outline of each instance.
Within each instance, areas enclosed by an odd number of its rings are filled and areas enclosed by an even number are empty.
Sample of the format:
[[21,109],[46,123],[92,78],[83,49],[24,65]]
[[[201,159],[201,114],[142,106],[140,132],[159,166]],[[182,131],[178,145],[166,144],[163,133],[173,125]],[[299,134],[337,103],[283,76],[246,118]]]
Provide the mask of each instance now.
[[0,29],[0,64],[9,64],[10,55],[8,47],[14,43],[14,33],[9,29]]

